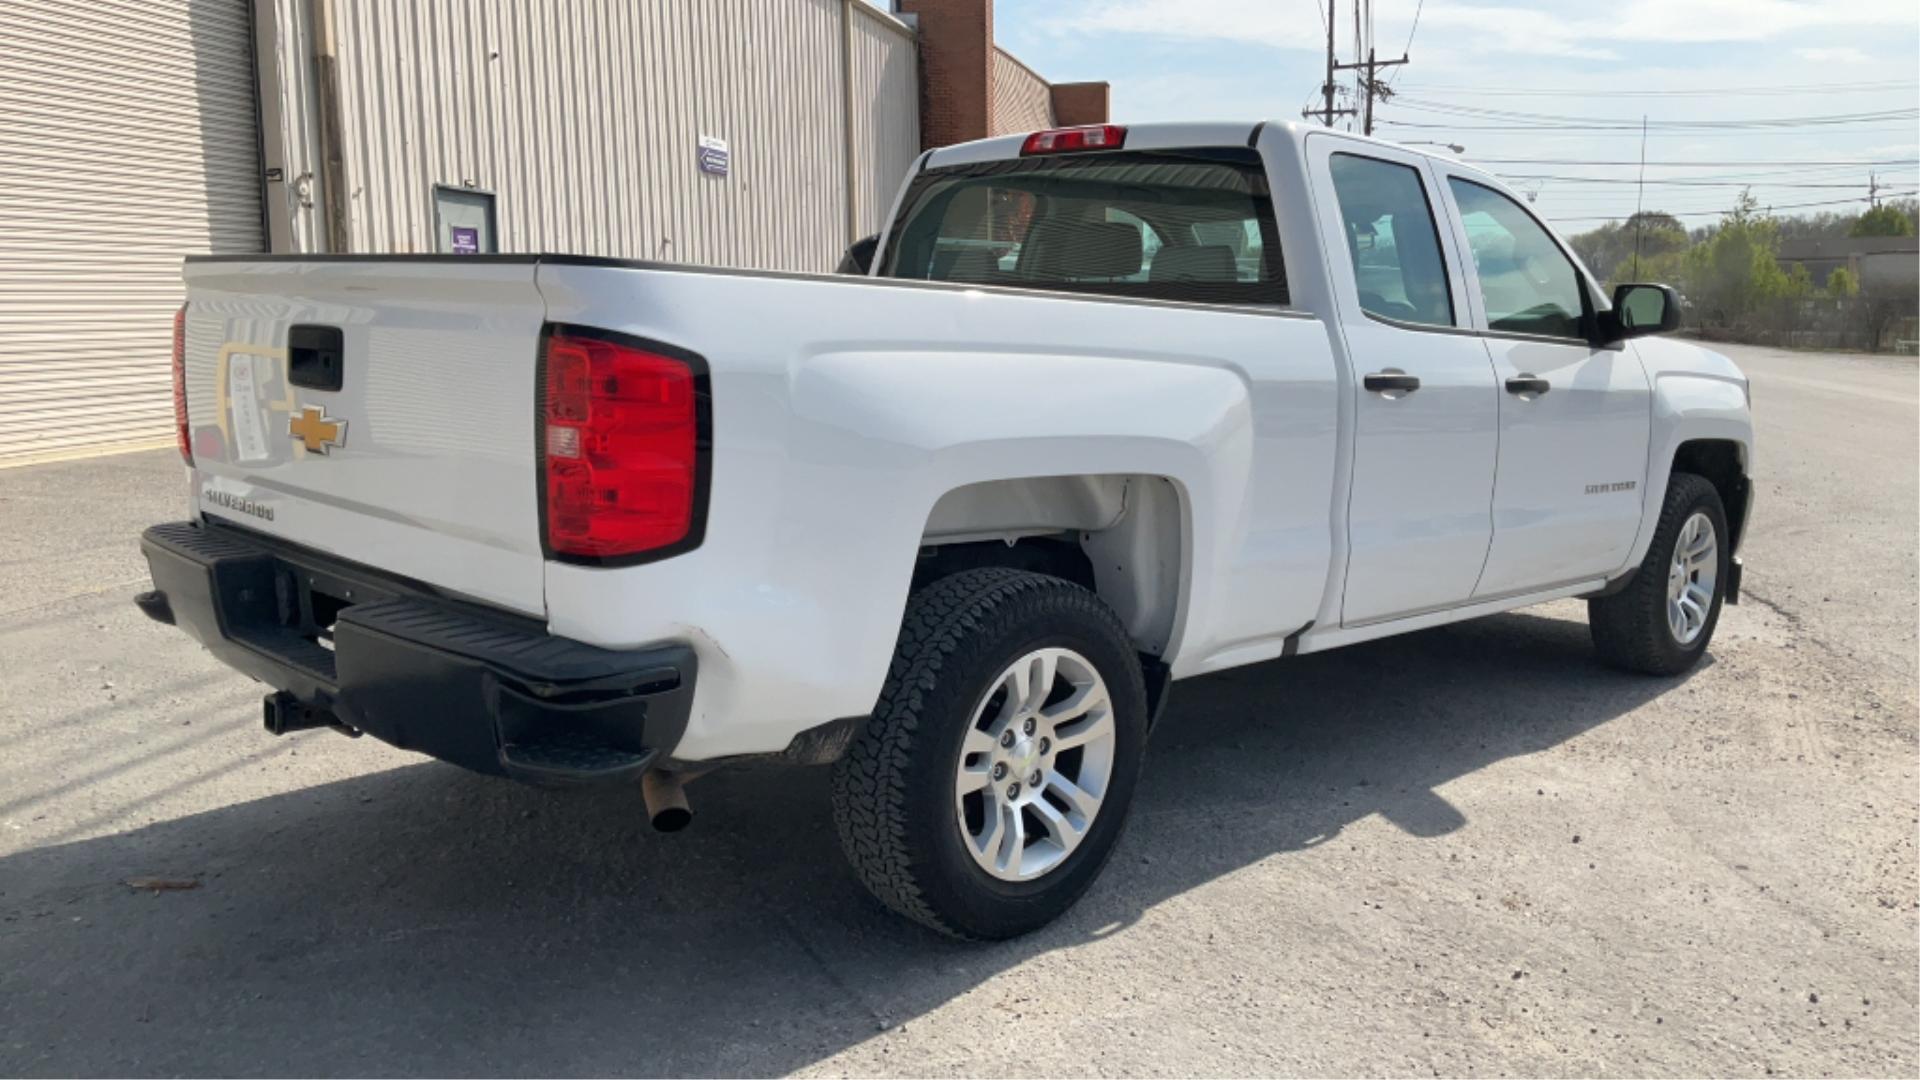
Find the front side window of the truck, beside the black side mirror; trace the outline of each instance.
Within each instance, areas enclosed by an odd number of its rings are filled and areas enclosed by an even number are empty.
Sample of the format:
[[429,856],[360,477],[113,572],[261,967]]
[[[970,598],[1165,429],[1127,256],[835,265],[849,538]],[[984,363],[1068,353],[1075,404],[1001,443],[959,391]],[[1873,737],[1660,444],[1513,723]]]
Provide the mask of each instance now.
[[1488,329],[1584,338],[1580,273],[1553,236],[1494,188],[1457,177],[1448,184],[1467,227]]

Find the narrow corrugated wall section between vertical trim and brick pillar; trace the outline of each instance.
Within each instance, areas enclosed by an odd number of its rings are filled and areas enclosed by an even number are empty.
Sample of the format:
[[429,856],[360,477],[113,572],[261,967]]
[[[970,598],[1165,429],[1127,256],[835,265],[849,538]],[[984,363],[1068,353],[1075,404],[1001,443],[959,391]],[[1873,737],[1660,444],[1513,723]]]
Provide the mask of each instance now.
[[914,33],[866,4],[852,21],[852,198],[856,234],[879,233],[920,158],[920,52]]

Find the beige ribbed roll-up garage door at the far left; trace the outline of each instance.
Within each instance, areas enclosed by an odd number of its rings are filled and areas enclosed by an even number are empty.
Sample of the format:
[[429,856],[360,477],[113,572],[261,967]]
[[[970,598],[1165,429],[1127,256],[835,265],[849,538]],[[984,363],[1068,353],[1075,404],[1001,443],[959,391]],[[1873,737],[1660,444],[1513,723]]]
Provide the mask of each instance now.
[[171,442],[180,256],[261,250],[248,0],[0,0],[0,467]]

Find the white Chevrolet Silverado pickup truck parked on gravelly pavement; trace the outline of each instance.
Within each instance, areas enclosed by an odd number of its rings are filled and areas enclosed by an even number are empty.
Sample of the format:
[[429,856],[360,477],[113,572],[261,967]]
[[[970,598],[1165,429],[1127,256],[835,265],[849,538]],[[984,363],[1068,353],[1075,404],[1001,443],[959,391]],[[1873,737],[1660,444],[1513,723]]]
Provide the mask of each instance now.
[[831,763],[968,938],[1100,872],[1169,684],[1588,598],[1692,667],[1747,382],[1488,175],[1294,123],[925,154],[864,277],[194,258],[138,603],[332,726],[657,824]]

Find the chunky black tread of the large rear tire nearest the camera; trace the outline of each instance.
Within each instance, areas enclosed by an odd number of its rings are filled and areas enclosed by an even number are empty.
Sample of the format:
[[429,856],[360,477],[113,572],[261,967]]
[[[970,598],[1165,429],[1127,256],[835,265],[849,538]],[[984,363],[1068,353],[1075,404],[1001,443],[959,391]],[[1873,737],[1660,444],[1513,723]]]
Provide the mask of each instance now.
[[[889,909],[952,938],[979,934],[945,919],[916,872],[906,821],[910,765],[924,740],[943,734],[924,730],[927,700],[943,690],[941,673],[979,648],[985,626],[1041,603],[1077,609],[1127,640],[1100,598],[1064,578],[983,567],[935,580],[908,600],[874,715],[833,767],[833,824],[854,874]],[[1133,678],[1140,680],[1139,667]]]

